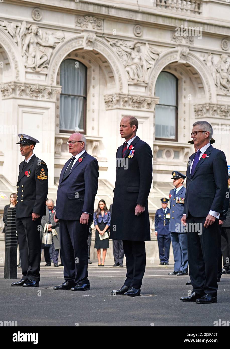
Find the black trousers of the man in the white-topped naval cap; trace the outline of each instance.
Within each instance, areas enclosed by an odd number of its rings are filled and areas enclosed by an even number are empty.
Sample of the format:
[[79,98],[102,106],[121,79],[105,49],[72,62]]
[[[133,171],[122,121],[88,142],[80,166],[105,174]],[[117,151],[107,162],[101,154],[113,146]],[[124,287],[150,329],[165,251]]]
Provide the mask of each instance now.
[[38,226],[41,217],[32,221],[32,217],[16,218],[16,230],[21,256],[24,280],[40,280],[41,239]]

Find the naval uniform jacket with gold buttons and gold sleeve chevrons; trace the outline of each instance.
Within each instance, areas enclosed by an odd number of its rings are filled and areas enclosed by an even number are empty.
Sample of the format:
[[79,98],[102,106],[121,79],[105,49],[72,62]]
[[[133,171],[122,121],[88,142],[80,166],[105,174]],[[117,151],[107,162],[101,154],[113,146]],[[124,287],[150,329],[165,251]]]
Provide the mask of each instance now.
[[[30,217],[33,212],[44,216],[48,194],[47,166],[36,155],[23,168],[24,162],[19,165],[16,218]],[[27,177],[25,172],[29,170]]]

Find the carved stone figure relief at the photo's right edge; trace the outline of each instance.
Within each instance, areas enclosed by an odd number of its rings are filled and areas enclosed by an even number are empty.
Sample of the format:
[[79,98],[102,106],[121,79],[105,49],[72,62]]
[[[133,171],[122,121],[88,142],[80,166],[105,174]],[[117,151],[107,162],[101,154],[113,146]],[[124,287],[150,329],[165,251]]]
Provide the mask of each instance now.
[[216,87],[224,94],[230,93],[230,61],[227,54],[221,54],[219,60],[215,64],[211,52],[208,55],[201,54],[201,59],[207,65]]

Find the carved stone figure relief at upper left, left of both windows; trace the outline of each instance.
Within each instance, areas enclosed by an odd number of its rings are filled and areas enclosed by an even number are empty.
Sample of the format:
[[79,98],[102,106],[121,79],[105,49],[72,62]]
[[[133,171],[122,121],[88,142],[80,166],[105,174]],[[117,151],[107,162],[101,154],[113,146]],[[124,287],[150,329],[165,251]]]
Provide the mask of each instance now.
[[36,24],[27,24],[25,21],[3,21],[0,25],[13,37],[20,49],[26,70],[47,72],[54,47],[64,40],[63,31],[45,32]]

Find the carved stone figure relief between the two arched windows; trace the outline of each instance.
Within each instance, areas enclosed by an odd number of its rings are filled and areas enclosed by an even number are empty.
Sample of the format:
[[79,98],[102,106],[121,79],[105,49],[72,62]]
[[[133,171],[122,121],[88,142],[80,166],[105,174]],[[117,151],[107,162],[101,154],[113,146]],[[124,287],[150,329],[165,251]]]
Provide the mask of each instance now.
[[159,51],[150,47],[148,43],[106,38],[114,48],[125,67],[128,81],[133,83],[148,83],[149,73],[154,67]]

